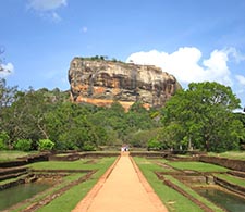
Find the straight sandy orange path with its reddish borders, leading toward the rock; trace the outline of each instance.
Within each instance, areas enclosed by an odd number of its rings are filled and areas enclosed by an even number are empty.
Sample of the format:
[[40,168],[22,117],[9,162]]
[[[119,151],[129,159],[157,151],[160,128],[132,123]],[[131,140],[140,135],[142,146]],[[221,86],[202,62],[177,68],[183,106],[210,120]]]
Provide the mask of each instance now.
[[102,175],[72,212],[168,212],[128,152]]

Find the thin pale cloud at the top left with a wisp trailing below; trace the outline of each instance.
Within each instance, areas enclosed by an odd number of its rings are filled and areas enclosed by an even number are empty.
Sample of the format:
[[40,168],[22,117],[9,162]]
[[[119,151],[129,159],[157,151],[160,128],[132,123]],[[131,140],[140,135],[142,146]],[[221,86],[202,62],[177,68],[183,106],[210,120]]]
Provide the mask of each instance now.
[[42,17],[53,22],[60,22],[62,18],[56,12],[60,7],[68,5],[66,0],[29,0],[28,9],[32,9]]

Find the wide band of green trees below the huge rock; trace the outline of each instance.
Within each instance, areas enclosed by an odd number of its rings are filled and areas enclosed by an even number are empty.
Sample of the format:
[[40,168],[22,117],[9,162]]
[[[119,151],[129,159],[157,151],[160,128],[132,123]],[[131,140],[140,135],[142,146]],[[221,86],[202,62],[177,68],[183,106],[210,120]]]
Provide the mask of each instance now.
[[229,87],[201,83],[179,91],[162,109],[146,110],[137,101],[125,112],[117,101],[110,108],[75,104],[58,88],[20,91],[1,79],[0,132],[9,135],[1,148],[26,139],[32,141],[30,150],[37,150],[40,139],[50,139],[56,150],[96,150],[123,144],[233,150],[245,140],[244,115],[232,113],[238,102]]

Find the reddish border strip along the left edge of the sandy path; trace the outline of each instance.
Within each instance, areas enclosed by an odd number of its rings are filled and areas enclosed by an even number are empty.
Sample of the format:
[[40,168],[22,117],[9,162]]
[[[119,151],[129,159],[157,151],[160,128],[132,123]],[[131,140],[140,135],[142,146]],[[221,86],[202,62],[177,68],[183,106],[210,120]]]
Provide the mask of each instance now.
[[115,164],[118,163],[120,157],[117,158],[114,163],[107,170],[107,172],[98,179],[96,185],[88,191],[88,194],[84,197],[82,201],[79,201],[75,209],[72,210],[72,212],[79,211],[79,212],[86,212],[88,208],[90,207],[94,198],[99,192],[101,187],[103,186],[107,178],[110,176],[112,170],[114,169]]

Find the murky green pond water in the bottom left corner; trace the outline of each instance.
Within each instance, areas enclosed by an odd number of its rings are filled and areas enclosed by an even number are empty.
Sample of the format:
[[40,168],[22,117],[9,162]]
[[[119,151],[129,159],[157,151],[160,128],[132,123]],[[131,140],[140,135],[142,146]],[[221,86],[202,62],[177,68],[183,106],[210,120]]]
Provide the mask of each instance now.
[[49,188],[50,184],[32,183],[21,184],[4,190],[0,190],[0,211],[10,208],[25,199],[32,198],[40,191]]

